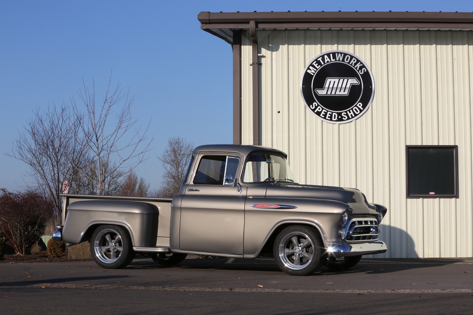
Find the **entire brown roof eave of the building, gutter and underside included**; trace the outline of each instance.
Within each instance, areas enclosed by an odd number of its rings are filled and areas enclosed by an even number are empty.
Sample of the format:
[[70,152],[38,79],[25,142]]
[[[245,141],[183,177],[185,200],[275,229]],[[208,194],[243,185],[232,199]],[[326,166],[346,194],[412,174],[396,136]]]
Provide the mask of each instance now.
[[233,30],[473,30],[473,12],[201,12],[201,29],[227,43]]

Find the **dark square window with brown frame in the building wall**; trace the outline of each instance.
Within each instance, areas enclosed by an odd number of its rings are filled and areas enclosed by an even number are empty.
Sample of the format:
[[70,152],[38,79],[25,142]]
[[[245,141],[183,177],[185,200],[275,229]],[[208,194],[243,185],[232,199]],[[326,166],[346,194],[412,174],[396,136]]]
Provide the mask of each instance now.
[[407,198],[458,198],[458,146],[407,145]]

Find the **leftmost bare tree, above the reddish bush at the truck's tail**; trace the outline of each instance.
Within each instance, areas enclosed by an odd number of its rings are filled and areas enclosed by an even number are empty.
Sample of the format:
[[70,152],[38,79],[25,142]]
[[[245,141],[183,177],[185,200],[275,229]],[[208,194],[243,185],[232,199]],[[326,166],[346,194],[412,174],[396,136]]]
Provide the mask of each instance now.
[[[78,128],[79,120],[73,119],[70,107],[62,103],[47,111],[36,109],[34,115],[23,126],[24,131],[14,141],[14,151],[8,154],[30,166],[27,190],[39,193],[54,204],[56,222],[61,220],[62,181],[69,180],[72,186],[80,181],[78,168],[83,167],[87,152],[78,145],[70,128]],[[68,121],[72,121],[72,126]],[[16,152],[15,152],[16,151]],[[66,154],[69,153],[69,154]]]

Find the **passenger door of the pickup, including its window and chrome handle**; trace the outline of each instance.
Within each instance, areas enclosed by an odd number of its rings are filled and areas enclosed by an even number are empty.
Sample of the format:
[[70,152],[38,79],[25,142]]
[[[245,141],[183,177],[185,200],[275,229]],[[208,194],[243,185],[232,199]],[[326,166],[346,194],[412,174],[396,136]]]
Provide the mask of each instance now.
[[237,156],[200,156],[181,202],[181,250],[243,255],[246,187],[234,182],[240,162]]

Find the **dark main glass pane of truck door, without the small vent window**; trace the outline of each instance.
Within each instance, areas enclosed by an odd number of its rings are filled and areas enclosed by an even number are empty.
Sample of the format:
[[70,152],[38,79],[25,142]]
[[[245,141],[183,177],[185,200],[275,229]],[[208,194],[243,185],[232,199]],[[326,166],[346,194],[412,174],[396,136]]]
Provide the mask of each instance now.
[[194,177],[194,184],[223,185],[226,155],[204,155]]

